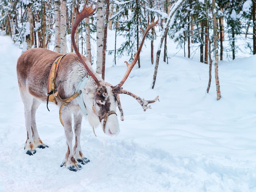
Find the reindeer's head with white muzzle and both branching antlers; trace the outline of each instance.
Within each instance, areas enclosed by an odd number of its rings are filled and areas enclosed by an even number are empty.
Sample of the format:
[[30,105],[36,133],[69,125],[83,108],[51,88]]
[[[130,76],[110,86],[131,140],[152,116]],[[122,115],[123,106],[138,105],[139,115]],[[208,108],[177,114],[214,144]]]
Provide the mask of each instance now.
[[85,2],[84,8],[82,12],[78,11],[78,4],[76,6],[76,21],[72,27],[71,31],[71,42],[73,44],[74,50],[76,52],[77,57],[79,60],[83,63],[84,67],[86,68],[88,75],[91,76],[93,81],[96,84],[96,87],[92,89],[89,87],[89,85],[86,85],[83,89],[84,93],[84,103],[85,106],[88,110],[88,119],[89,123],[92,126],[98,126],[100,123],[102,124],[102,129],[104,133],[107,133],[108,135],[115,135],[120,132],[119,130],[119,124],[117,120],[117,115],[116,115],[116,106],[118,106],[120,115],[121,115],[121,121],[124,121],[124,113],[123,109],[121,107],[121,102],[120,102],[120,97],[119,94],[124,93],[127,95],[132,96],[134,99],[136,99],[140,105],[142,106],[143,110],[146,111],[150,106],[148,104],[154,103],[158,100],[158,96],[154,100],[144,100],[137,95],[133,94],[132,92],[126,91],[123,89],[123,84],[128,78],[130,72],[132,71],[132,68],[136,64],[136,62],[139,59],[140,51],[142,49],[142,46],[144,44],[145,38],[147,36],[147,33],[150,29],[155,27],[158,24],[158,20],[154,22],[155,17],[151,24],[149,25],[149,18],[148,18],[148,23],[147,23],[147,28],[144,31],[142,28],[143,37],[142,41],[140,43],[139,49],[134,55],[134,60],[132,61],[131,64],[128,64],[127,61],[125,61],[127,65],[127,70],[126,73],[121,80],[119,84],[116,86],[113,86],[107,82],[104,81],[99,81],[98,78],[94,75],[94,73],[90,70],[90,68],[86,65],[85,61],[83,60],[81,54],[79,53],[76,43],[75,43],[75,31],[76,28],[78,27],[79,23],[86,17],[89,17],[92,15],[95,11],[96,8],[92,9],[92,5],[89,7],[86,7],[87,0]]

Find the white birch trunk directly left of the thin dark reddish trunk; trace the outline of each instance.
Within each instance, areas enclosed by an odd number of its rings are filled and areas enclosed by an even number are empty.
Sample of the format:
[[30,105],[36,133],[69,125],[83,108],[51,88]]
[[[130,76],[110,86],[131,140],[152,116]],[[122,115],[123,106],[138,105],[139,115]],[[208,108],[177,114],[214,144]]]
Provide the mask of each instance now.
[[102,60],[103,60],[103,37],[104,37],[104,0],[97,1],[96,12],[96,31],[97,31],[97,69],[96,72],[101,74],[102,72]]

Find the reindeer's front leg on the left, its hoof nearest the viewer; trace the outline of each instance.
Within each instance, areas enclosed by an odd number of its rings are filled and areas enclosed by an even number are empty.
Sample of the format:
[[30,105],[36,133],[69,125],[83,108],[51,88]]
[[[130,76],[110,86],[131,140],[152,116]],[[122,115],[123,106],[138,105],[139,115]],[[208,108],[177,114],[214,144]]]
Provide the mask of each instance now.
[[81,165],[76,161],[76,158],[73,155],[72,150],[72,139],[73,139],[73,132],[72,132],[72,119],[71,119],[71,112],[65,106],[62,108],[62,121],[64,123],[64,131],[67,139],[68,150],[66,156],[60,165],[66,166],[70,171],[78,171],[82,169]]

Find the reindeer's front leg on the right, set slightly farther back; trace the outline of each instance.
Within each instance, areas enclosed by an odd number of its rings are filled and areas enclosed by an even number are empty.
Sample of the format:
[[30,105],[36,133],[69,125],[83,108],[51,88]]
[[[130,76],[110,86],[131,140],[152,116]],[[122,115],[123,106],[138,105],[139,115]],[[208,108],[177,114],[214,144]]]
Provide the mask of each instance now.
[[83,115],[81,113],[74,113],[74,131],[75,131],[75,146],[74,146],[74,156],[76,160],[81,164],[89,163],[90,160],[87,159],[81,150],[80,146],[80,136],[81,136],[81,123]]

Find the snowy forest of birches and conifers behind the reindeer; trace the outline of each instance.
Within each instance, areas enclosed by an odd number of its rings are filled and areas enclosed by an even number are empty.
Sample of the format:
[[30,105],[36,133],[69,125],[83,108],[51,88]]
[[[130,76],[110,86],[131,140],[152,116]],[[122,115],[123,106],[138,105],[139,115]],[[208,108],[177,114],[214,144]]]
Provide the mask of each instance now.
[[[106,54],[114,58],[113,66],[116,58],[124,54],[129,54],[129,61],[132,61],[142,37],[140,28],[146,28],[148,18],[153,20],[154,17],[159,26],[147,36],[151,41],[151,64],[155,65],[152,89],[162,47],[163,60],[168,63],[167,38],[177,43],[184,57],[193,57],[200,50],[200,62],[209,64],[207,92],[214,61],[218,100],[218,61],[234,60],[241,52],[256,54],[255,0],[89,0],[88,3],[96,6],[97,12],[78,26],[76,44],[80,52],[97,65],[96,72],[102,74],[103,79]],[[84,4],[83,0],[2,0],[0,34],[10,36],[23,51],[33,47],[50,49],[52,45],[55,52],[73,52],[70,32],[76,12],[81,11]],[[115,47],[111,50],[107,48],[108,30],[115,32]],[[93,33],[96,39],[92,38]],[[125,38],[121,46],[116,46],[117,36]],[[160,39],[158,44],[156,38]],[[92,41],[97,42],[97,47],[93,48],[96,60],[92,57]],[[140,67],[143,66],[139,59]]]

